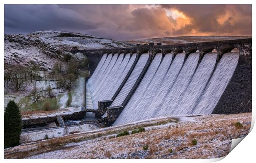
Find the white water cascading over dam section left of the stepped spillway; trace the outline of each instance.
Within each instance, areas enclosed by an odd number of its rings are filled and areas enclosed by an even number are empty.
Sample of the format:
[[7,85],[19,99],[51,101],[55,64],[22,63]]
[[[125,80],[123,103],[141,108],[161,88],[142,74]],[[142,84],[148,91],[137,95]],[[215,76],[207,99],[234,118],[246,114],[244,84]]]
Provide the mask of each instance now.
[[[111,60],[110,60],[111,58]],[[86,83],[86,109],[98,109],[98,101],[111,99],[133,65],[136,54],[104,54],[92,77]],[[110,61],[109,61],[110,60]],[[104,71],[102,73],[102,71]],[[102,75],[102,76],[100,76]],[[89,92],[90,89],[90,92]]]

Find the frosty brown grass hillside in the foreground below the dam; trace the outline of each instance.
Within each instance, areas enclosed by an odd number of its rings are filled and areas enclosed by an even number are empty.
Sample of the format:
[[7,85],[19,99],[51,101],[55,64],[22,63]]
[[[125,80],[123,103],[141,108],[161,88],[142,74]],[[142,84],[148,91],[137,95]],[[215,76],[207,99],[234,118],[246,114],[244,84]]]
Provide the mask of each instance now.
[[[21,144],[5,158],[219,158],[250,127],[251,113],[159,117]],[[138,128],[145,132],[131,134]],[[130,135],[117,137],[125,130]]]

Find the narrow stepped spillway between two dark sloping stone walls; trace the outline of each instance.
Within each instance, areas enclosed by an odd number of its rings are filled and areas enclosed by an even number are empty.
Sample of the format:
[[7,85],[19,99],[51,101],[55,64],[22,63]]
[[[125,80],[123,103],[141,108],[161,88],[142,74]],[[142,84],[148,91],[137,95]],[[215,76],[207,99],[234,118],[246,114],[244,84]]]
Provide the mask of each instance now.
[[148,53],[140,55],[140,58],[137,61],[132,73],[130,74],[126,83],[123,85],[119,94],[116,96],[116,98],[112,102],[111,106],[121,106],[123,104],[124,100],[126,99],[130,90],[134,86],[134,84],[137,81],[138,77],[140,76],[142,70],[144,69],[148,59],[149,59],[149,54]]

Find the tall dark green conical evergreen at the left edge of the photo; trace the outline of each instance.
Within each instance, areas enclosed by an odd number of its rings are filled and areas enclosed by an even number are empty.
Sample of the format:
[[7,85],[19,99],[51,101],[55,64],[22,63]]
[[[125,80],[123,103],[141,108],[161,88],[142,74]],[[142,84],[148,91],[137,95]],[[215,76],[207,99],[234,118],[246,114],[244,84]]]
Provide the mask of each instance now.
[[5,148],[19,145],[21,134],[21,114],[19,113],[19,106],[11,100],[8,102],[5,109]]

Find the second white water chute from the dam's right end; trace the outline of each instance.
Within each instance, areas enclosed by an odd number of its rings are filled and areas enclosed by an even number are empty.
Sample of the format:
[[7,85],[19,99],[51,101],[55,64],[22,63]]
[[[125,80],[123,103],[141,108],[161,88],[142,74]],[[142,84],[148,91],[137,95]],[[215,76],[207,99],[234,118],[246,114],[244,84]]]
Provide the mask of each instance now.
[[207,82],[211,78],[216,60],[216,52],[204,55],[184,94],[180,95],[175,104],[171,104],[171,108],[175,109],[173,115],[191,114],[193,107],[197,104],[197,99],[200,97]]

